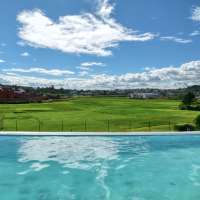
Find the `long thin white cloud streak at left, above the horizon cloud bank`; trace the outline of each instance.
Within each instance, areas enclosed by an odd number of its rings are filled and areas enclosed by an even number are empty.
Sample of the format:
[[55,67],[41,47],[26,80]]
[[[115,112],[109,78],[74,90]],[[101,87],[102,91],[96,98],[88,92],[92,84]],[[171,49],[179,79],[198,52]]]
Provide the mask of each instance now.
[[74,72],[71,71],[65,71],[65,70],[58,70],[58,69],[52,69],[52,70],[46,70],[43,68],[31,68],[31,69],[3,69],[3,71],[13,71],[13,72],[37,72],[41,74],[49,74],[54,76],[61,76],[63,74],[74,74]]

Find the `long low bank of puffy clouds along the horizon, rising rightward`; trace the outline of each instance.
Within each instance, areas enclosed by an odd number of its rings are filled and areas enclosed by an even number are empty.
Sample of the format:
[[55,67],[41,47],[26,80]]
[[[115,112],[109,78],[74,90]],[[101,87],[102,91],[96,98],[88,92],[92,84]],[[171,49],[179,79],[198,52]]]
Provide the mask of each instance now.
[[[150,70],[149,70],[150,69]],[[5,70],[3,70],[5,71]],[[41,72],[44,73],[44,72]],[[89,74],[87,71],[79,72],[79,76]],[[87,78],[46,79],[29,76],[5,76],[0,74],[3,84],[17,84],[32,87],[47,87],[69,89],[126,89],[126,88],[179,88],[200,84],[200,61],[185,63],[178,68],[148,68],[148,72],[127,73],[121,76],[108,76],[106,74],[90,75]]]

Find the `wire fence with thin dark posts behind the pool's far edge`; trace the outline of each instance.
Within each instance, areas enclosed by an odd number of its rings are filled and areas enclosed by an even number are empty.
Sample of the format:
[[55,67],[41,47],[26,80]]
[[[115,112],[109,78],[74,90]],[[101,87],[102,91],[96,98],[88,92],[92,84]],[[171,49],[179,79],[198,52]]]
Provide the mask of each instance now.
[[39,131],[39,132],[151,132],[172,131],[173,125],[170,121],[148,121],[134,123],[134,121],[103,121],[99,124],[67,123],[67,121],[45,121],[42,122],[25,120],[1,120],[1,131]]

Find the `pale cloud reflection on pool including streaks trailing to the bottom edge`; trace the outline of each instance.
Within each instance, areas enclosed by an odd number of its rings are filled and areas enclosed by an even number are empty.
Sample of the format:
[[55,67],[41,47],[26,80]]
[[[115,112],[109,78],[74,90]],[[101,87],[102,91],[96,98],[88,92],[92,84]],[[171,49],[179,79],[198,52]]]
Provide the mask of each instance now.
[[[105,182],[105,177],[109,175],[108,169],[114,166],[114,170],[118,171],[132,159],[130,153],[146,156],[149,149],[145,138],[133,140],[129,137],[27,137],[19,138],[19,141],[18,161],[34,161],[19,175],[48,168],[52,161],[61,164],[64,169],[59,173],[66,175],[71,173],[70,169],[95,171],[92,182],[100,188],[99,191],[104,190],[105,199],[110,198],[111,192]],[[123,164],[119,162],[117,166],[113,165],[113,161],[121,160],[124,153],[129,156],[122,161]]]

